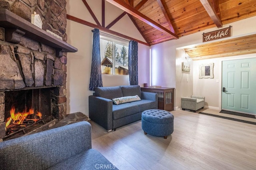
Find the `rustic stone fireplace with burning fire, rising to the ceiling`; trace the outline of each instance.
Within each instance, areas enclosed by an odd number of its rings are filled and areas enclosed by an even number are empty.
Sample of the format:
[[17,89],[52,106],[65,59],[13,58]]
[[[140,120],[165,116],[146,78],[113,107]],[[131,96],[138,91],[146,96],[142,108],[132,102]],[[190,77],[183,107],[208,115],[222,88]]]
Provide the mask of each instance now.
[[[0,1],[0,10],[6,9],[17,18],[14,25],[0,21],[0,141],[6,136],[5,125],[13,107],[15,113],[32,108],[35,113],[29,120],[39,119],[35,115],[42,113],[44,123],[66,116],[67,52],[75,51],[65,50],[70,47],[66,43],[65,7],[65,0]],[[40,14],[42,30],[30,23],[33,12]],[[46,29],[63,40],[48,35]],[[18,42],[9,41],[10,32],[15,39],[16,35],[24,36],[18,37]]]

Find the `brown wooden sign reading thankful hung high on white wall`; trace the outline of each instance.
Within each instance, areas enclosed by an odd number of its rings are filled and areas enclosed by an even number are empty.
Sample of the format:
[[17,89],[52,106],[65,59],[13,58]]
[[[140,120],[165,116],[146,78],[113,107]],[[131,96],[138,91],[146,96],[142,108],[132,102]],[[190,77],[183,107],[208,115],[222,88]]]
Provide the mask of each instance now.
[[203,33],[203,43],[207,41],[212,41],[216,39],[222,39],[231,36],[231,26],[217,31],[212,31],[208,33]]

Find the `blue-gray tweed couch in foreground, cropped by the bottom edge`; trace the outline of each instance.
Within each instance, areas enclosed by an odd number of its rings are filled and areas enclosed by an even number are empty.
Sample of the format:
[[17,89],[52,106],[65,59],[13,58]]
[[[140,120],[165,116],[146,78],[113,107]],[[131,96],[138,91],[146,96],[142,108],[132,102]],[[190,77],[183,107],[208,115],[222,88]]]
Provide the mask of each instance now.
[[0,165],[2,170],[117,169],[92,149],[86,121],[1,142]]

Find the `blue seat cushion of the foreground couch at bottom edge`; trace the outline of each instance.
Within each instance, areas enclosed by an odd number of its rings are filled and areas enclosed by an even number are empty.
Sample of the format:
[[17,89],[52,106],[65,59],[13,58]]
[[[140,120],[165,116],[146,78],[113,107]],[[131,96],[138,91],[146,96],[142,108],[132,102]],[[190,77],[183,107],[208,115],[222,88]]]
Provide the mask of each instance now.
[[48,168],[47,170],[94,170],[100,169],[101,165],[105,165],[104,169],[117,169],[100,152],[95,149],[88,149]]

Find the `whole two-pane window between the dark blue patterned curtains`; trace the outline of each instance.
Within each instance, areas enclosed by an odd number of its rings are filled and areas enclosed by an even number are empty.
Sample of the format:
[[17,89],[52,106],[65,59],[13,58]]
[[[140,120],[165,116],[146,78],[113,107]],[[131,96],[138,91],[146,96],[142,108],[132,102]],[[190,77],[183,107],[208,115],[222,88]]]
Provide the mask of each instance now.
[[128,41],[100,34],[100,57],[102,74],[129,74]]

